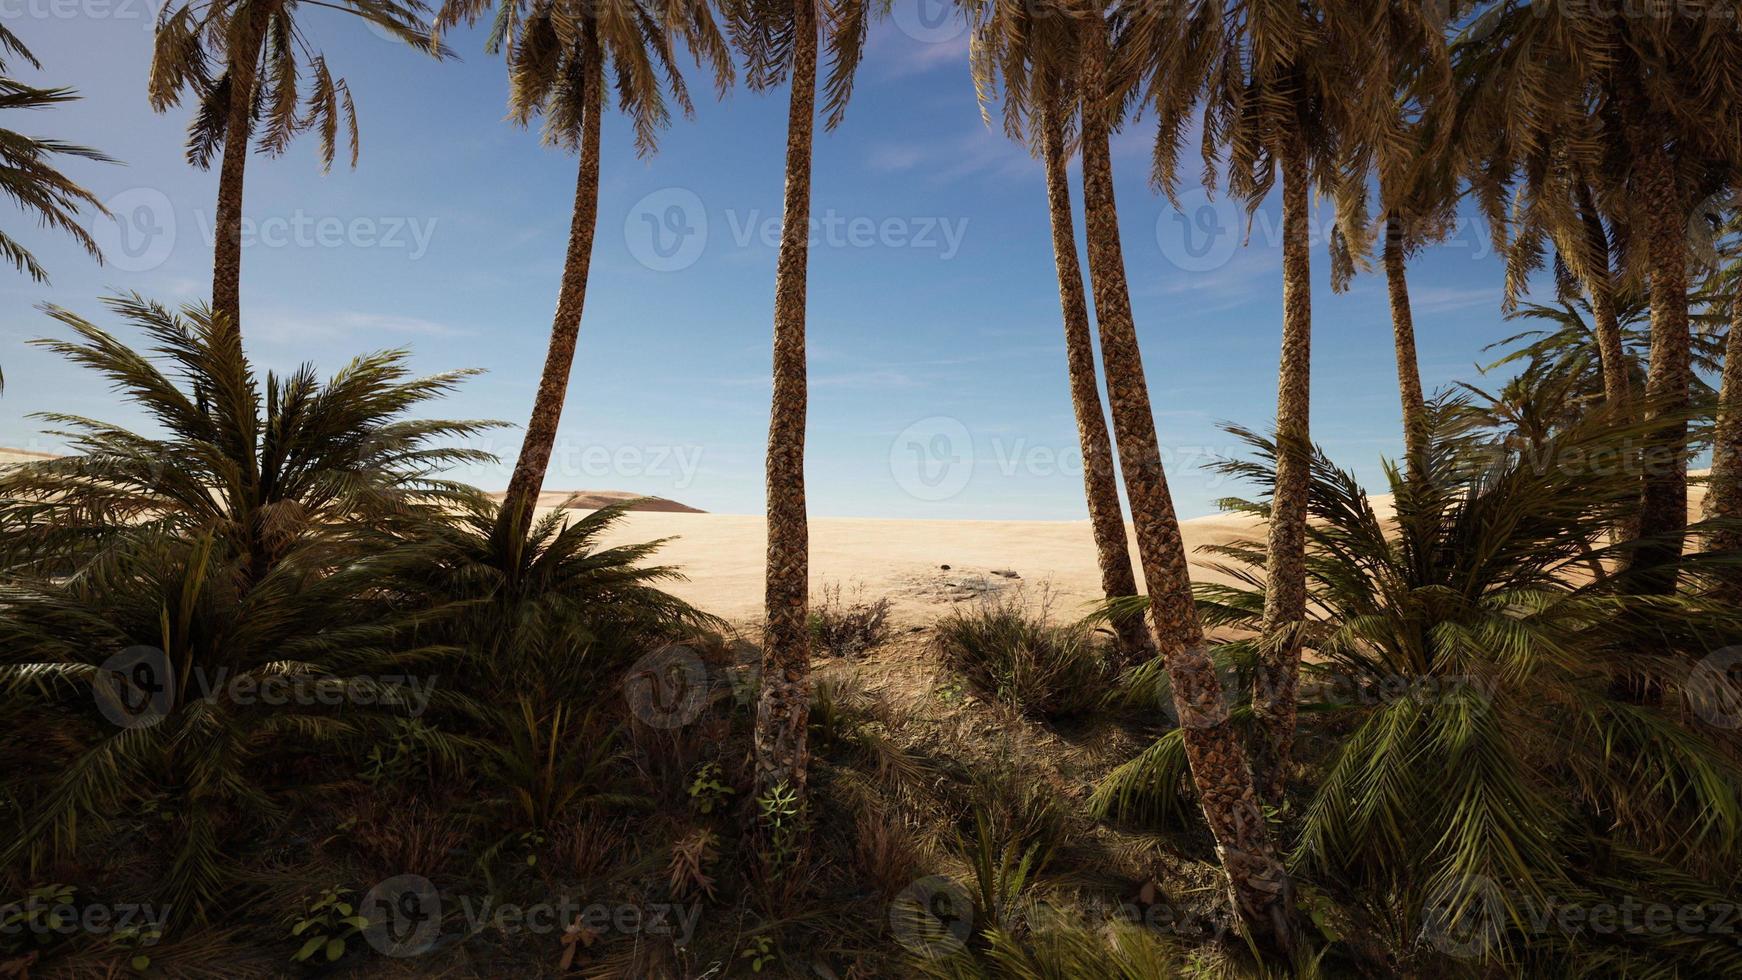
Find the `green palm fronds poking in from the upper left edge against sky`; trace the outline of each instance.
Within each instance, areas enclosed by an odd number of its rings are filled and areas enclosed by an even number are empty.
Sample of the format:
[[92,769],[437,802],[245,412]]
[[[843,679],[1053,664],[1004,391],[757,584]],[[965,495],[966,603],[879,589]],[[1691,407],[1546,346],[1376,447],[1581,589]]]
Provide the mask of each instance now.
[[[7,56],[23,57],[31,68],[42,68],[17,35],[0,28],[0,73],[7,71]],[[42,110],[70,103],[77,97],[71,89],[37,89],[10,77],[0,77],[0,110]],[[63,157],[103,160],[106,164],[115,162],[87,146],[73,146],[57,139],[37,139],[23,132],[0,129],[0,190],[21,211],[35,214],[44,226],[70,235],[91,258],[101,263],[103,252],[98,251],[98,244],[91,238],[91,233],[78,225],[78,211],[87,205],[99,214],[108,214],[108,211],[91,191],[54,167],[51,157],[57,153]],[[37,282],[49,280],[47,270],[37,265],[37,258],[30,254],[30,249],[5,232],[0,232],[0,258],[10,261],[19,272]]]

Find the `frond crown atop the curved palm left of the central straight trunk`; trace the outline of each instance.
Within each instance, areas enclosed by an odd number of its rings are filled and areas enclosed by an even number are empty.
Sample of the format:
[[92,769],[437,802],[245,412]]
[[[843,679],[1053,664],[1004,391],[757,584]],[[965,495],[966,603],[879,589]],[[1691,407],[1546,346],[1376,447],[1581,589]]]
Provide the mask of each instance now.
[[[587,106],[585,80],[610,77],[617,108],[636,131],[636,151],[652,153],[671,124],[671,99],[695,115],[678,64],[678,44],[712,73],[723,96],[733,80],[732,50],[702,0],[448,0],[436,30],[476,24],[491,7],[484,49],[507,50],[509,117],[526,125],[544,117],[545,143],[580,146]],[[603,104],[603,85],[598,89]]]

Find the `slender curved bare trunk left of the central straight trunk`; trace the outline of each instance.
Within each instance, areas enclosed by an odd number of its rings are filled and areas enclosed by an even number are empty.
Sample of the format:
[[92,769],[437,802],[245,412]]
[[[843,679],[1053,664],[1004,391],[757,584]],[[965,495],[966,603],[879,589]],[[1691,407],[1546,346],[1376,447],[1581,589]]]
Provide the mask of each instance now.
[[[591,35],[582,42],[596,49]],[[603,75],[596,61],[582,78],[582,104],[587,106],[580,122],[580,169],[575,174],[575,211],[568,225],[568,256],[563,259],[563,287],[557,292],[556,319],[550,324],[550,346],[545,348],[544,373],[538,376],[538,393],[533,397],[533,414],[526,423],[526,439],[514,461],[509,493],[502,498],[502,520],[512,520],[510,541],[521,541],[533,524],[538,491],[544,489],[545,470],[556,447],[556,428],[563,420],[563,402],[568,397],[568,373],[575,364],[575,341],[580,336],[580,315],[587,305],[587,270],[592,263],[592,235],[599,223],[599,117],[604,111]]]

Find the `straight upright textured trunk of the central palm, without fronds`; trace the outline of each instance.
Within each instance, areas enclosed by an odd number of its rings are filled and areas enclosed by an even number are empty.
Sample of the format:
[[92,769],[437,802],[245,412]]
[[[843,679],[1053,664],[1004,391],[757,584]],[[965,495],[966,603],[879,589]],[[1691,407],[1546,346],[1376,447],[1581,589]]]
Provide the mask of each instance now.
[[773,294],[773,404],[768,413],[768,567],[758,795],[805,799],[810,752],[810,529],[805,520],[805,285],[810,249],[810,143],[817,103],[817,9],[793,2],[793,96],[786,120],[786,214]]

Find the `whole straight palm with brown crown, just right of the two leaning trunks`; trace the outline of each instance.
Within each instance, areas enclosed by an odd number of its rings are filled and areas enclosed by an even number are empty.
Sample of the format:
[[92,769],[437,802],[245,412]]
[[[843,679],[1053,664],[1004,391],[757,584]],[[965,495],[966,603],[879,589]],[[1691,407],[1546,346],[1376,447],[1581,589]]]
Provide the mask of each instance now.
[[1265,644],[1252,679],[1254,769],[1266,801],[1280,802],[1293,750],[1300,682],[1300,623],[1306,614],[1306,468],[1312,386],[1312,261],[1308,191],[1336,200],[1333,263],[1366,252],[1366,174],[1350,167],[1374,143],[1374,120],[1390,120],[1390,73],[1383,101],[1361,85],[1373,45],[1366,17],[1338,0],[1139,3],[1129,12],[1120,75],[1155,108],[1151,179],[1174,198],[1181,136],[1202,106],[1204,178],[1214,190],[1226,151],[1228,190],[1256,209],[1282,183],[1282,359],[1277,374],[1277,467],[1268,527]]

